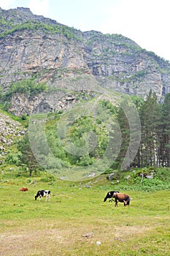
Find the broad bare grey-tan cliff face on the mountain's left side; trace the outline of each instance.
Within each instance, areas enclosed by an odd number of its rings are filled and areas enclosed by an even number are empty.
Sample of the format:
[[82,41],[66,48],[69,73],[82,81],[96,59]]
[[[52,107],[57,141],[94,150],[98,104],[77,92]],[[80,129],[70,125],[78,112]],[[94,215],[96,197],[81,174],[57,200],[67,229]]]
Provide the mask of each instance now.
[[59,34],[45,36],[43,31],[15,31],[1,39],[1,44],[2,86],[35,74],[40,81],[53,84],[56,78],[88,69],[82,45],[74,40],[66,42]]

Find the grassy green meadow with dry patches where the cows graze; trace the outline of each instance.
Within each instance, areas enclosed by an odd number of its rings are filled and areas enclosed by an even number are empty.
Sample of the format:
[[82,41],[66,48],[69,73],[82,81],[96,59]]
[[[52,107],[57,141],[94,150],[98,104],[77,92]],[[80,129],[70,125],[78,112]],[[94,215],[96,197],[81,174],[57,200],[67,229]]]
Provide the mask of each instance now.
[[[49,203],[34,200],[38,189],[51,190]],[[1,174],[0,255],[170,255],[170,191],[121,189],[131,205],[116,208],[104,203],[115,189],[105,176],[71,182]]]

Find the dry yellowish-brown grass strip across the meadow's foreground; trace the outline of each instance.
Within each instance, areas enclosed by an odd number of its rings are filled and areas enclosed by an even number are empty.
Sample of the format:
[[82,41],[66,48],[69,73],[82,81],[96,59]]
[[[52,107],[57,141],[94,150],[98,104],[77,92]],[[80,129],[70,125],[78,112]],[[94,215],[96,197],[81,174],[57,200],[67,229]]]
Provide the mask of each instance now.
[[[40,220],[41,222],[41,220]],[[31,223],[30,223],[31,225]],[[145,233],[149,228],[147,227],[112,227],[107,230],[107,234],[113,236],[113,240],[120,242],[126,241],[128,238],[136,236],[136,234]],[[37,224],[37,230],[33,225],[33,229],[28,227],[28,230],[15,230],[12,232],[1,233],[0,239],[0,255],[1,256],[49,256],[57,251],[56,255],[62,256],[62,250],[66,247],[76,246],[79,242],[95,241],[96,238],[101,238],[102,241],[107,239],[107,234],[96,230],[96,232],[83,233],[78,227],[50,227],[42,223]],[[88,231],[88,230],[87,230]],[[89,242],[90,242],[89,241]]]

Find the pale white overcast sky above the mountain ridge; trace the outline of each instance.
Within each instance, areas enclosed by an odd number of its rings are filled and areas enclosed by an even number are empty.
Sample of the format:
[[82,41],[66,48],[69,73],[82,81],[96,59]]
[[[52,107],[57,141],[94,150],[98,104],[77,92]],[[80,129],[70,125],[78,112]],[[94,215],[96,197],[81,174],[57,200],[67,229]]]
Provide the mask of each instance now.
[[122,34],[170,61],[169,0],[0,0],[81,31]]

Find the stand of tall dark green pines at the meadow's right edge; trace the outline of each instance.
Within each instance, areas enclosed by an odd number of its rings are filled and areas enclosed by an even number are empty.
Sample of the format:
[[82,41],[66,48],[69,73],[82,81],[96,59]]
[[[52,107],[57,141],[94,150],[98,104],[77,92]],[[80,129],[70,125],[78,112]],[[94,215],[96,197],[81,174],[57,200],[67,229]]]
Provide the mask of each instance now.
[[[163,103],[158,103],[155,93],[150,91],[145,100],[134,97],[134,104],[141,121],[141,140],[130,167],[170,167],[170,94],[166,94]],[[120,165],[128,147],[130,132],[128,120],[121,109],[117,118],[124,138],[116,162],[116,165]]]

